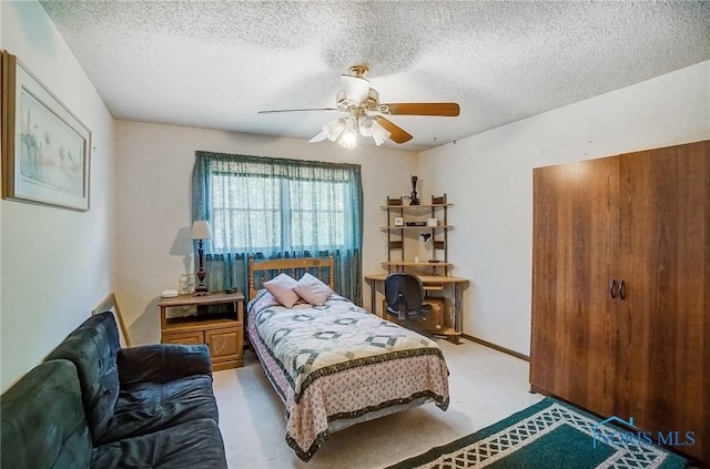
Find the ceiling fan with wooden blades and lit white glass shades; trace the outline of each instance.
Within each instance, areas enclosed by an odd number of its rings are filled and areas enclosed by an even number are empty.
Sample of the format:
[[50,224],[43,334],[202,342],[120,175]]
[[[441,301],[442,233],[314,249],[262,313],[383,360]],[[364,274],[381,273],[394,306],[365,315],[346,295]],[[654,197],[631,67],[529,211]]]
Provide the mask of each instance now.
[[326,139],[346,149],[354,149],[357,135],[372,136],[377,146],[387,139],[396,143],[412,140],[412,135],[396,125],[385,115],[429,115],[454,118],[459,114],[457,103],[381,103],[379,93],[369,88],[369,80],[365,74],[367,65],[354,65],[349,74],[341,75],[343,89],[337,92],[335,102],[337,108],[284,109],[276,111],[260,111],[260,114],[304,111],[339,111],[346,115],[323,125],[310,142],[322,142]]

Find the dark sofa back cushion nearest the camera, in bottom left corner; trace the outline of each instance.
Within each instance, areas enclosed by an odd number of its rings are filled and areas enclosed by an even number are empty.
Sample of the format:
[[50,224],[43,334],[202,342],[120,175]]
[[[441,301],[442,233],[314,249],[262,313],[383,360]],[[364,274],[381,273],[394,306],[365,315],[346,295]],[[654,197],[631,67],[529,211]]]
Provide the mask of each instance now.
[[87,468],[91,436],[77,369],[43,363],[0,397],[2,468]]

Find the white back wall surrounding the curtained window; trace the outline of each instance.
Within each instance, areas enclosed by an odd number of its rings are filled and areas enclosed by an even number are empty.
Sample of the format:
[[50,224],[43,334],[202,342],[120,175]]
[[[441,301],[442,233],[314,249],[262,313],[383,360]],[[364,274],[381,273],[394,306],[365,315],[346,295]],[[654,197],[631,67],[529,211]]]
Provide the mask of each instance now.
[[379,263],[387,254],[385,235],[378,230],[385,223],[379,206],[387,195],[410,192],[415,154],[382,149],[348,151],[332,142],[116,121],[116,296],[131,341],[160,341],[160,293],[179,288],[180,276],[193,272],[186,234],[196,150],[361,164],[363,272],[382,271]]

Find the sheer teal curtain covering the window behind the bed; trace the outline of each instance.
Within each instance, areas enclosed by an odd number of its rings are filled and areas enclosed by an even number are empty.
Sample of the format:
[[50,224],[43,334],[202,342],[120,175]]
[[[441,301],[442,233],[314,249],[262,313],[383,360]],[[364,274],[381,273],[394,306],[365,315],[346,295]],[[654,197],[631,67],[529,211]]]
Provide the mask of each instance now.
[[[192,215],[211,290],[247,290],[247,258],[335,258],[337,293],[362,305],[361,166],[197,151]],[[196,256],[195,256],[196,257]]]

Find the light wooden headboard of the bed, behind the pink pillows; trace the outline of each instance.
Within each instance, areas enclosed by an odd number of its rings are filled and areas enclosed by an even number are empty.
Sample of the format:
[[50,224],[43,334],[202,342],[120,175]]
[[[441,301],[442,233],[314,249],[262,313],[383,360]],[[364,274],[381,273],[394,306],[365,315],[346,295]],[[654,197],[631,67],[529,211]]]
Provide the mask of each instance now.
[[333,256],[328,258],[322,257],[304,257],[300,259],[270,259],[255,261],[248,258],[248,299],[256,296],[256,292],[263,288],[264,282],[274,278],[276,275],[284,273],[291,275],[296,281],[308,273],[314,277],[326,283],[335,290],[335,263]]

